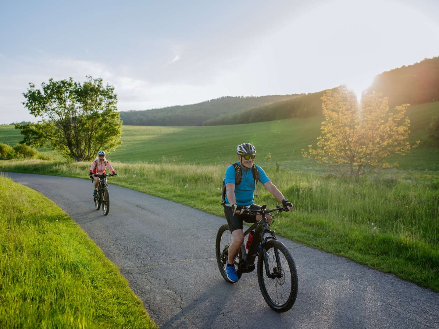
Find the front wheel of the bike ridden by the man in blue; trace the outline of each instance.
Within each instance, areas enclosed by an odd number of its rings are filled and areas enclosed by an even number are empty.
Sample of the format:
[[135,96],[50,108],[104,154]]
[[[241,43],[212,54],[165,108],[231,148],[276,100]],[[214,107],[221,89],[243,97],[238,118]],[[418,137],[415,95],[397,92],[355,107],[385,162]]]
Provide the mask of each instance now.
[[[290,251],[281,241],[268,240],[265,247],[269,272],[273,277],[267,276],[261,248],[258,257],[259,288],[270,308],[277,312],[286,312],[294,305],[297,297],[296,265]],[[276,251],[279,254],[279,261],[276,260]]]

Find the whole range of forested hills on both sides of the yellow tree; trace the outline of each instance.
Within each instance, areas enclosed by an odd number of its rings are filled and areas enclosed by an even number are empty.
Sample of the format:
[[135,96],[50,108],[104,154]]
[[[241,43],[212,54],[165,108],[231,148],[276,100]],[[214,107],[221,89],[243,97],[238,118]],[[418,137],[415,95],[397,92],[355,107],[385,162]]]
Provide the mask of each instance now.
[[[389,97],[389,106],[439,100],[439,57],[377,75],[372,90]],[[202,103],[147,111],[120,112],[124,125],[233,125],[321,114],[325,90],[261,97],[221,97]]]

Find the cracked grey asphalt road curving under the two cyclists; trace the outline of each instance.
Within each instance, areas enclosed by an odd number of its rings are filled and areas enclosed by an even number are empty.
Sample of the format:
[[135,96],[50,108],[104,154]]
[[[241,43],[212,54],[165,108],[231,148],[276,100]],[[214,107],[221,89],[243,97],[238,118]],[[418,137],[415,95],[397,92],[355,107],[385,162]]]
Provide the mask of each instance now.
[[[225,219],[110,183],[110,213],[94,209],[91,180],[5,173],[70,215],[120,269],[160,328],[439,328],[439,293],[343,257],[290,248],[299,293],[272,311],[256,271],[224,281],[215,237]],[[292,215],[292,214],[291,214]]]

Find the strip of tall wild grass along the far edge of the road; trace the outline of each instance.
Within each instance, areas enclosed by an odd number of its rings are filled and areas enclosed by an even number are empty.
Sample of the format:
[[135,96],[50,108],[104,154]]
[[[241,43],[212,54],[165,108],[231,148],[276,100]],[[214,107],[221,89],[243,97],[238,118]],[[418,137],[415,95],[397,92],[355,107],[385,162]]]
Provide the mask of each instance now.
[[[223,217],[223,165],[113,164],[110,182]],[[83,178],[88,163],[0,161],[1,171]],[[439,292],[439,176],[387,172],[359,183],[266,168],[295,205],[272,228],[277,234],[391,272]],[[87,177],[87,176],[86,176]],[[92,189],[90,184],[90,190]],[[278,204],[259,186],[255,202]]]

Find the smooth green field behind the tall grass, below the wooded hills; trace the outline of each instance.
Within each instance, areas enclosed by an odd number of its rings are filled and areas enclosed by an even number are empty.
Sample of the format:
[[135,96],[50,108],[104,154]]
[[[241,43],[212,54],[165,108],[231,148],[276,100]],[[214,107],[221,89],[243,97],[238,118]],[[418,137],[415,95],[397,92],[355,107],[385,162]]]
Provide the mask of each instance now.
[[[439,171],[439,149],[427,138],[432,116],[439,114],[439,102],[411,106],[410,142],[421,145],[405,156],[394,157],[400,168]],[[110,161],[185,162],[194,164],[230,164],[236,161],[239,143],[256,146],[257,163],[272,155],[281,168],[302,172],[323,172],[324,167],[302,157],[301,149],[315,145],[320,136],[322,116],[292,118],[243,125],[202,127],[122,126],[122,145],[108,156]],[[13,126],[0,126],[0,142],[14,145],[21,140]],[[43,151],[47,151],[43,150]],[[59,159],[59,158],[58,158]]]

